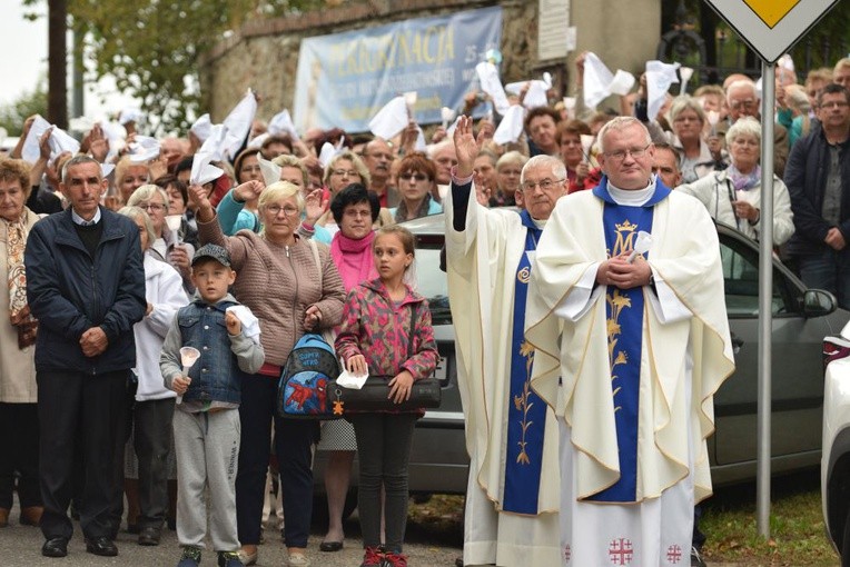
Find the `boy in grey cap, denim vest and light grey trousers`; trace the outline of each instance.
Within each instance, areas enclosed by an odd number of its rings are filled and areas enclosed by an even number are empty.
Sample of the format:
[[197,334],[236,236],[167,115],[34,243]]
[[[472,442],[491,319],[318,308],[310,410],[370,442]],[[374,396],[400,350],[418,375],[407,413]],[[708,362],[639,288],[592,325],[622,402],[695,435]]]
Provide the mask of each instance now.
[[[265,355],[256,318],[227,291],[235,280],[226,249],[206,245],[195,252],[191,282],[197,292],[177,312],[159,360],[166,387],[182,396],[174,417],[177,538],[184,547],[178,567],[200,563],[207,531],[205,485],[209,486],[209,533],[218,566],[243,566],[236,531],[237,409],[243,374],[259,370]],[[238,317],[228,310],[235,306],[241,310]],[[182,374],[181,347],[200,352],[188,377]]]

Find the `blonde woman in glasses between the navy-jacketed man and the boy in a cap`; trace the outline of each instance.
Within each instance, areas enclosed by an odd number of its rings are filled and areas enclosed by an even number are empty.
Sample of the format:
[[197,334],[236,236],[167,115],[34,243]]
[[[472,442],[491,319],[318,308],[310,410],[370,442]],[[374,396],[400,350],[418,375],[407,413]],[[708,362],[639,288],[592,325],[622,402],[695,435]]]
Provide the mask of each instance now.
[[168,192],[151,183],[142,185],[127,199],[127,206],[142,209],[148,213],[154,226],[154,239],[146,253],[170,263],[182,278],[184,289],[191,296],[195,287],[191,284],[189,262],[195,253],[195,247],[180,242],[177,232],[168,228],[166,223],[168,202]]

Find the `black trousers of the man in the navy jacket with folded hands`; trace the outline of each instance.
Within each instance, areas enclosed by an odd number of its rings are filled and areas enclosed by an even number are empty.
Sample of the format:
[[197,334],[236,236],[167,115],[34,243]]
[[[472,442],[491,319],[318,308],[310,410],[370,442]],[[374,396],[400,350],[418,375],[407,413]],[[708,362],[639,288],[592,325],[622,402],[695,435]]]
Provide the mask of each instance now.
[[[115,494],[116,436],[126,419],[129,369],[101,375],[39,371],[39,460],[45,538],[70,539],[68,505],[73,496],[75,459],[82,462],[80,526],[87,538],[110,537]],[[81,455],[75,455],[75,449]]]

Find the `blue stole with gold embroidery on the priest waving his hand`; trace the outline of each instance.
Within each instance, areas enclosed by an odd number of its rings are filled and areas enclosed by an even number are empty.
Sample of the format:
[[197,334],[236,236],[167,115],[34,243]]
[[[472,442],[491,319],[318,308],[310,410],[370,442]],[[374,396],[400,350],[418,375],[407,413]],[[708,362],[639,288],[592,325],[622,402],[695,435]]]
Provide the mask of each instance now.
[[511,388],[507,409],[507,455],[502,507],[517,514],[537,514],[543,464],[543,430],[546,402],[531,389],[534,351],[525,341],[525,299],[531,278],[527,252],[537,249],[542,230],[528,215],[520,213],[525,231],[525,251],[514,278],[514,321],[511,337]]

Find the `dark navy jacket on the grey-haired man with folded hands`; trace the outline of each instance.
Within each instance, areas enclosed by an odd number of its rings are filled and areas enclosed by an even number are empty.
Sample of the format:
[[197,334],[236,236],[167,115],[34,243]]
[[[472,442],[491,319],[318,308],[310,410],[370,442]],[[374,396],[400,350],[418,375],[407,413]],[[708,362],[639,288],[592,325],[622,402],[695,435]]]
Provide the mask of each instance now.
[[[92,258],[71,209],[36,222],[27,238],[27,299],[39,320],[36,369],[102,374],[136,366],[132,326],[147,309],[139,229],[100,208],[103,232]],[[86,357],[79,340],[101,327],[107,350]]]

